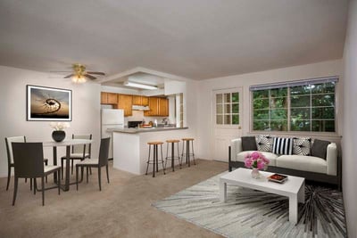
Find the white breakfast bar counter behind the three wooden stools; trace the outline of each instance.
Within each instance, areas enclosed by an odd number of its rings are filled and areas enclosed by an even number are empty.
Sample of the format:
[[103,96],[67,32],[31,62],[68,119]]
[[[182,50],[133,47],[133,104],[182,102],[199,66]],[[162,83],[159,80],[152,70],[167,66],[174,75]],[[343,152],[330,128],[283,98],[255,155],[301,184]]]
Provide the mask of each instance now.
[[[161,141],[162,157],[166,157],[166,140],[192,137],[188,127],[117,128],[112,129],[113,168],[143,175],[149,153],[148,142]],[[179,144],[182,146],[182,144]],[[181,148],[179,150],[181,152]],[[159,157],[161,151],[159,149]],[[149,168],[150,171],[150,168]]]

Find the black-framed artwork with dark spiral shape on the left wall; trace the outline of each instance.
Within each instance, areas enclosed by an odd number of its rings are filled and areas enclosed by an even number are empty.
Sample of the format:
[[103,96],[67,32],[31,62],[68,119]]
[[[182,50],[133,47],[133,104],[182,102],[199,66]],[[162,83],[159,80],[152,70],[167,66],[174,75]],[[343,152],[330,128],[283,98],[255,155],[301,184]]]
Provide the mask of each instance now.
[[71,121],[72,91],[28,85],[27,120]]

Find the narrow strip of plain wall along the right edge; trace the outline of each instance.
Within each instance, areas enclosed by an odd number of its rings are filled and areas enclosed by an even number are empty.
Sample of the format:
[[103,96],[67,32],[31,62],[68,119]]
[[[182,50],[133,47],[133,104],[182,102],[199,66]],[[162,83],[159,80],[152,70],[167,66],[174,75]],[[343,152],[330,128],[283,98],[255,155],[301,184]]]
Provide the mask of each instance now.
[[357,237],[357,1],[350,1],[345,39],[343,191],[349,237]]

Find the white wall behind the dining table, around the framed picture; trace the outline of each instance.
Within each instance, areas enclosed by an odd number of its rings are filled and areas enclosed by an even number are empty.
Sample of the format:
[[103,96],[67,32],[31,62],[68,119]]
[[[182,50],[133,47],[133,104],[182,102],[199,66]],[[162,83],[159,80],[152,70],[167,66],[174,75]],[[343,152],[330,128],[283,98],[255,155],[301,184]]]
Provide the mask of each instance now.
[[[100,142],[100,85],[87,82],[74,85],[71,79],[50,78],[48,74],[0,66],[0,176],[7,176],[7,155],[4,137],[26,135],[28,141],[50,141],[53,129],[48,121],[26,120],[26,85],[51,86],[72,90],[71,127],[65,129],[66,135],[72,133],[93,134],[93,157],[98,155]],[[58,157],[64,155],[58,150]],[[52,163],[52,149],[45,149],[45,156]],[[13,168],[12,168],[13,174]],[[13,182],[13,181],[12,181]]]

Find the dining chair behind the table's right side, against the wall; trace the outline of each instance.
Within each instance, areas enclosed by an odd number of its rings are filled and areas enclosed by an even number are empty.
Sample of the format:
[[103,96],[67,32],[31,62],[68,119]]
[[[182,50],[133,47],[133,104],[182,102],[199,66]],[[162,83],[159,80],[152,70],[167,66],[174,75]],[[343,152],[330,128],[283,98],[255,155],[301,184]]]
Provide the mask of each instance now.
[[[84,140],[91,140],[92,139],[92,134],[83,134],[83,135],[72,135],[72,139],[84,139]],[[71,174],[73,174],[73,164],[74,160],[85,160],[87,158],[90,158],[91,154],[91,144],[75,144],[72,145],[71,147],[71,154],[70,154],[70,160],[71,160]],[[63,178],[63,160],[66,160],[66,156],[61,157],[61,173],[62,173],[62,178]]]

